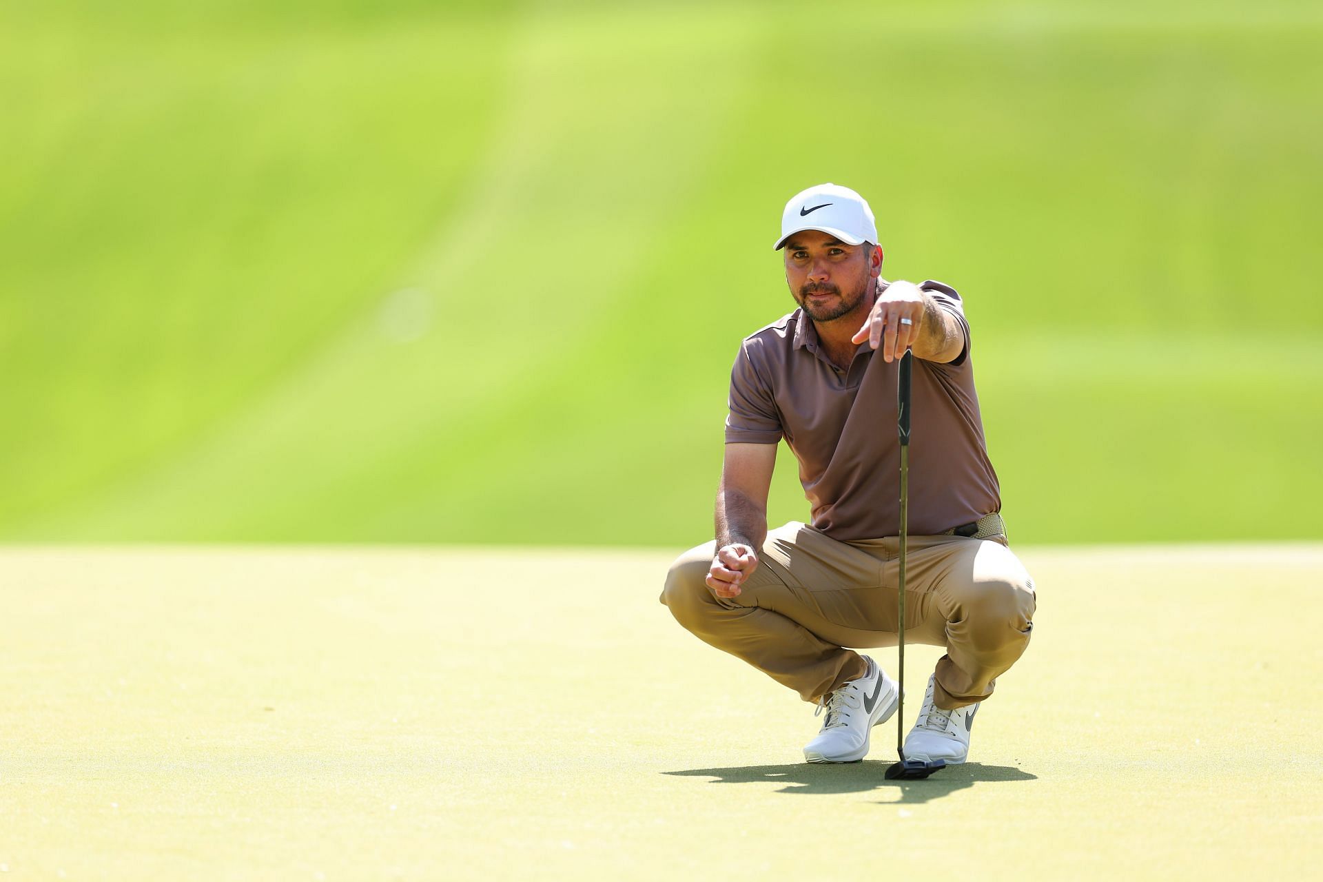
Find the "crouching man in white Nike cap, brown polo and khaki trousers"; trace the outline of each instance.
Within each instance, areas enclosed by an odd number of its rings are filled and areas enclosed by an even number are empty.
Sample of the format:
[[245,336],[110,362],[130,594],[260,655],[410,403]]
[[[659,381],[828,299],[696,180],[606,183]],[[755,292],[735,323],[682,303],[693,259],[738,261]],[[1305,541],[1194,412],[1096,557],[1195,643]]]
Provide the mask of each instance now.
[[[872,209],[824,184],[786,205],[799,308],[744,340],[730,374],[717,538],[671,567],[662,602],[689,632],[818,705],[811,763],[863,759],[898,685],[845,647],[896,644],[900,357],[914,353],[906,643],[946,648],[905,756],[963,763],[974,714],[1029,644],[1033,581],[1011,553],[959,295],[885,282]],[[777,443],[812,522],[767,530]]]

